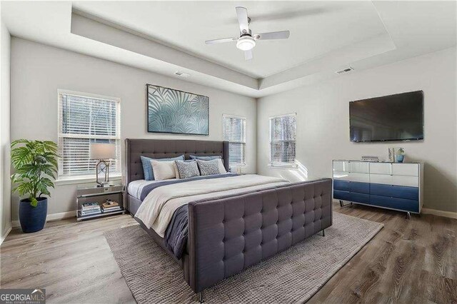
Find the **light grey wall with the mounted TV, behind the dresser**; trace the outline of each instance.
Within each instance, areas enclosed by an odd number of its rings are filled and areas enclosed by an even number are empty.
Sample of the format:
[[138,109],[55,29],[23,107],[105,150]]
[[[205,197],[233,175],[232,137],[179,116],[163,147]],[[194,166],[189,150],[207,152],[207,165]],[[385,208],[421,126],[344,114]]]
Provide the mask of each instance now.
[[[424,208],[457,212],[456,49],[446,49],[366,71],[338,76],[313,86],[258,99],[258,173],[291,180],[331,177],[332,159],[386,160],[388,147],[402,146],[406,161],[423,161]],[[423,90],[423,141],[351,143],[348,102]],[[272,168],[268,118],[297,113],[298,170]]]

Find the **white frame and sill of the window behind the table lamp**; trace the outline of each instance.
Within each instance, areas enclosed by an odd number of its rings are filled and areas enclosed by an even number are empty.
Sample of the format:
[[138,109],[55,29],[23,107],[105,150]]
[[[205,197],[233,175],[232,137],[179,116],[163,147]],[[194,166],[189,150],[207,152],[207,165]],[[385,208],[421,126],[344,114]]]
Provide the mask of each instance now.
[[[78,96],[81,98],[91,98],[91,99],[101,99],[101,100],[107,100],[107,101],[114,101],[116,102],[116,129],[118,130],[116,132],[115,138],[109,138],[111,136],[77,136],[77,135],[72,135],[72,136],[65,136],[65,133],[61,133],[61,96],[62,95],[71,95],[71,96]],[[114,96],[105,96],[105,95],[100,95],[100,94],[94,94],[94,93],[85,93],[85,92],[80,92],[80,91],[71,91],[71,90],[65,90],[65,89],[57,89],[57,145],[59,147],[59,153],[61,151],[61,138],[99,138],[99,139],[114,139],[116,142],[119,142],[119,159],[116,159],[116,161],[119,161],[119,173],[110,173],[109,178],[112,181],[119,181],[121,180],[122,177],[122,143],[121,143],[121,98],[119,97],[114,97]],[[116,143],[117,145],[118,143]],[[57,178],[56,178],[56,185],[65,185],[65,184],[72,184],[72,183],[90,183],[93,182],[94,179],[96,178],[96,172],[94,168],[94,173],[93,174],[84,174],[84,175],[75,175],[75,176],[62,176],[61,175],[61,164],[62,160],[61,157],[59,157],[59,171],[57,173]],[[110,162],[111,163],[111,162]]]

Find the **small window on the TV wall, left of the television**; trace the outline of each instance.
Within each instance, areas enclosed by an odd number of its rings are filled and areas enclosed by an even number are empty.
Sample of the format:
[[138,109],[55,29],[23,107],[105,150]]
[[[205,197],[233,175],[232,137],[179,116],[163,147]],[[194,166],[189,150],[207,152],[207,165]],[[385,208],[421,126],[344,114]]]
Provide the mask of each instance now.
[[296,113],[270,118],[270,165],[296,166]]

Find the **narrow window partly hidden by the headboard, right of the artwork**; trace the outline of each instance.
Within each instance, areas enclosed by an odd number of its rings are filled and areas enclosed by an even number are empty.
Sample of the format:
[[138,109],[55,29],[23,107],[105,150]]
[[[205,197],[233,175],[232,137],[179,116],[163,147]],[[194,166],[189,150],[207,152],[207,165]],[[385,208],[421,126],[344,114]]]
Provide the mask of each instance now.
[[230,166],[246,164],[246,118],[223,115],[222,128],[224,141],[229,141]]

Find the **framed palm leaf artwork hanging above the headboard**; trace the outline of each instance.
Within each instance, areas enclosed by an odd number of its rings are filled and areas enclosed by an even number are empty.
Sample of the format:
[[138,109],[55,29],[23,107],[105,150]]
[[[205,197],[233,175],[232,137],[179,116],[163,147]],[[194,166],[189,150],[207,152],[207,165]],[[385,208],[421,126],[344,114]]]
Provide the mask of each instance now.
[[148,132],[209,135],[209,97],[147,84]]

